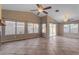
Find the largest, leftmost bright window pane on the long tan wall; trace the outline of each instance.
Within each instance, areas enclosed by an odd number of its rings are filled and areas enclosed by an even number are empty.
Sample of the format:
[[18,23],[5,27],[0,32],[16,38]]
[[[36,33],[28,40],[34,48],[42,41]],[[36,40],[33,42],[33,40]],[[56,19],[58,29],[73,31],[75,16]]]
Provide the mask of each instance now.
[[15,34],[15,22],[13,21],[5,21],[5,35],[13,35]]

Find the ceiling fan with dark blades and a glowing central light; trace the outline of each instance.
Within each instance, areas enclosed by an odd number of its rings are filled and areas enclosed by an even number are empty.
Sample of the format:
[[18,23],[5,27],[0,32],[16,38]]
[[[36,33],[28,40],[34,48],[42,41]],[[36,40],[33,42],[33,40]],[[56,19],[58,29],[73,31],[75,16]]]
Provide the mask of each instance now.
[[35,10],[31,10],[31,11],[38,11],[37,15],[39,15],[41,12],[48,14],[48,12],[46,11],[47,9],[51,9],[51,6],[48,7],[43,7],[41,4],[36,4],[37,8]]

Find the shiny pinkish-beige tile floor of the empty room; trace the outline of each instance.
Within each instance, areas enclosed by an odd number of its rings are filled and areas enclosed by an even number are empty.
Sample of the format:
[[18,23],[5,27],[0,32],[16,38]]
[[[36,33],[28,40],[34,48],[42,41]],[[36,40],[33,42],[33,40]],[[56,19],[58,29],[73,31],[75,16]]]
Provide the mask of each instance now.
[[79,39],[50,37],[4,43],[0,55],[79,55]]

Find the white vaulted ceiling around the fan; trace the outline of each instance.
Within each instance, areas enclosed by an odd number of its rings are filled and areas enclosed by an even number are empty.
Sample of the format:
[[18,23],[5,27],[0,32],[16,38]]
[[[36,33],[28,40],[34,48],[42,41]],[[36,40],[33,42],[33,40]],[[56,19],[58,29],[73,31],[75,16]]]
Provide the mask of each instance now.
[[[3,4],[3,9],[7,10],[16,10],[16,11],[24,11],[24,12],[33,12],[30,11],[36,9],[35,4]],[[48,9],[48,15],[51,16],[58,22],[63,21],[64,15],[69,15],[69,19],[78,20],[79,19],[79,5],[78,4],[43,4],[44,7],[52,6],[52,9]],[[59,12],[55,12],[55,10],[60,10]],[[45,14],[41,13],[39,16],[45,16]]]

